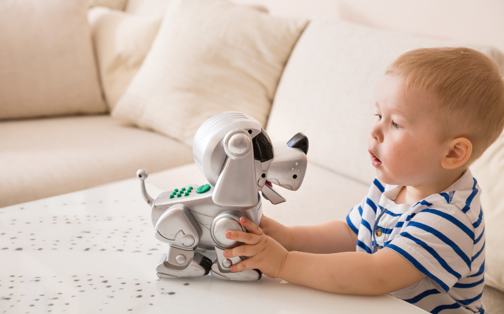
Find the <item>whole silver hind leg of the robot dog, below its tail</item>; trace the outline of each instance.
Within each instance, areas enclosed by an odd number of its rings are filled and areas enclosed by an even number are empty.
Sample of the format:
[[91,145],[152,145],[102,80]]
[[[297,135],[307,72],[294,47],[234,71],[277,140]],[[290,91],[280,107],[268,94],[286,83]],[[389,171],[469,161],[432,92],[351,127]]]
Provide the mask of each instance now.
[[156,266],[159,278],[198,277],[210,272],[212,261],[195,251],[202,231],[191,212],[175,204],[159,218],[154,229],[158,240],[170,244]]

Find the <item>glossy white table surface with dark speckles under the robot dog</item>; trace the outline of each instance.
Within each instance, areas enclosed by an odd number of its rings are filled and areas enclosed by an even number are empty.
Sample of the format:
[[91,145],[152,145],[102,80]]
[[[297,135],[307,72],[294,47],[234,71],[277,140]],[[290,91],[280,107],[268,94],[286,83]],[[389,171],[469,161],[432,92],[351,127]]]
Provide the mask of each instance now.
[[136,179],[0,208],[0,313],[425,313],[389,295],[340,295],[266,276],[160,280],[154,268],[167,246],[153,230]]

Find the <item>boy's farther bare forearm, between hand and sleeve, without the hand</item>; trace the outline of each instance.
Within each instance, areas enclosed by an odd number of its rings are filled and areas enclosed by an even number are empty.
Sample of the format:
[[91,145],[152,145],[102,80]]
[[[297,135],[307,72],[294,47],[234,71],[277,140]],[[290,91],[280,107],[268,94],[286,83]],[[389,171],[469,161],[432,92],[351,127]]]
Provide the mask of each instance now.
[[357,237],[346,222],[328,221],[312,226],[291,226],[290,241],[286,245],[289,251],[330,254],[355,252]]

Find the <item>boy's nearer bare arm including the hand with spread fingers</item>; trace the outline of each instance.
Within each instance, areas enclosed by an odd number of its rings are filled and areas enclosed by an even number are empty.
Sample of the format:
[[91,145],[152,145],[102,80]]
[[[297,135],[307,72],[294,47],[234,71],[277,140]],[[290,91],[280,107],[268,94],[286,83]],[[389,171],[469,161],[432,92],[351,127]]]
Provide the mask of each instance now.
[[425,278],[410,262],[391,249],[377,253],[309,254],[287,250],[251,221],[240,218],[249,233],[230,230],[226,237],[248,245],[224,251],[225,257],[248,256],[232,272],[259,269],[268,277],[320,290],[379,295],[400,290]]

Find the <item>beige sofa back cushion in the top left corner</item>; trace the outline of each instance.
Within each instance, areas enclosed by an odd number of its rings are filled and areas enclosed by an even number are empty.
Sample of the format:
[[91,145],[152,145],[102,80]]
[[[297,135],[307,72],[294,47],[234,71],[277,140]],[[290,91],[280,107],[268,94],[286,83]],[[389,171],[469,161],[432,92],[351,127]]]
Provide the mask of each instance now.
[[105,112],[87,0],[0,1],[0,119]]

